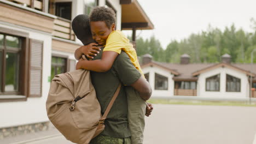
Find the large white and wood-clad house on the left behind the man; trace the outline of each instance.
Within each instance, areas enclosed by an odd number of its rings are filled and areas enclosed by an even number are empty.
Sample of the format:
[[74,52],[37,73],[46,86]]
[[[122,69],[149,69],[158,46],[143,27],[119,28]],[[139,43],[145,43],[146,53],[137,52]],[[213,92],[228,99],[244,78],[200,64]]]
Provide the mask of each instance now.
[[117,29],[153,29],[136,0],[0,0],[0,139],[48,128],[54,75],[75,69],[71,20],[96,5],[113,8]]

